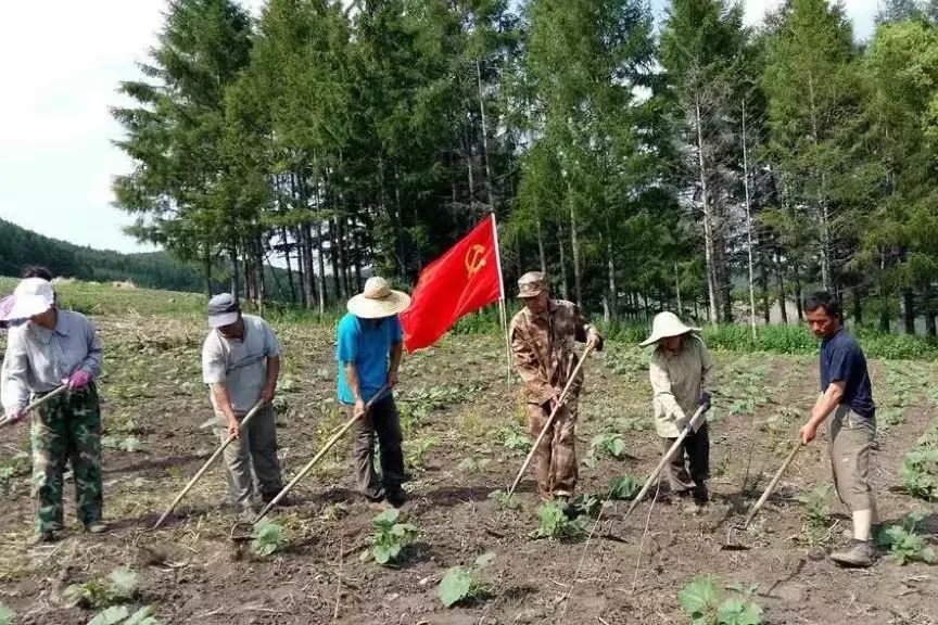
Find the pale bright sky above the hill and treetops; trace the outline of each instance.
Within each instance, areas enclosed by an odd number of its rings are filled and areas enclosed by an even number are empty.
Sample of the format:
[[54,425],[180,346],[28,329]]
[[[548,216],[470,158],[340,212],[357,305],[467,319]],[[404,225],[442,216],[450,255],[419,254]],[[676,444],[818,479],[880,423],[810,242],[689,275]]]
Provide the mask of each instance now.
[[[758,23],[781,0],[746,0]],[[256,12],[263,0],[243,0]],[[0,21],[0,217],[80,245],[147,251],[125,235],[131,218],[111,206],[111,180],[130,162],[111,144],[126,104],[117,82],[139,77],[165,0],[9,2]],[[666,0],[652,0],[661,15]],[[877,0],[847,0],[858,38]]]

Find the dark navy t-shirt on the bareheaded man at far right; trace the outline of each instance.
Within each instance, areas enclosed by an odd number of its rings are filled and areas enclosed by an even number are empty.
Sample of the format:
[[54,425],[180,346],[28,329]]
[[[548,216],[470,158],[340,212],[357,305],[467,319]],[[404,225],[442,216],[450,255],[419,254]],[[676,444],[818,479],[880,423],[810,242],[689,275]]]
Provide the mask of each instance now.
[[844,397],[840,404],[866,419],[875,417],[866,357],[857,340],[844,328],[821,343],[821,392],[827,391],[832,382],[841,381]]

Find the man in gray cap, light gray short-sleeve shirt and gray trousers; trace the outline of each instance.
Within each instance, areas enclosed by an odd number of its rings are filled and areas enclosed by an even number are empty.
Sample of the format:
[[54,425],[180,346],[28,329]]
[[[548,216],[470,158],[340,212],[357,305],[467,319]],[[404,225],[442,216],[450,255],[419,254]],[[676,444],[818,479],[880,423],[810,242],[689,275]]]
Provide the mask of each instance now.
[[[208,302],[208,326],[212,331],[202,346],[202,379],[210,386],[216,433],[223,441],[238,438],[224,455],[232,502],[243,518],[253,520],[254,476],[265,503],[283,488],[271,404],[281,347],[270,326],[261,317],[242,315],[229,293]],[[241,421],[257,403],[264,407],[242,428]],[[279,503],[289,501],[284,497]]]

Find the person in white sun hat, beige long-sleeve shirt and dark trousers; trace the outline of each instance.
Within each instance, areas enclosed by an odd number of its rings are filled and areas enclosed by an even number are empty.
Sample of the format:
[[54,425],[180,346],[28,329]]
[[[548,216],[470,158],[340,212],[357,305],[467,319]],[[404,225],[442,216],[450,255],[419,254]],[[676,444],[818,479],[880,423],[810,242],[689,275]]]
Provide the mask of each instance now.
[[[642,347],[655,345],[649,377],[651,379],[655,426],[667,450],[674,444],[698,407],[710,409],[717,370],[713,358],[696,333],[699,328],[685,326],[673,312],[659,312],[651,322],[651,335]],[[672,493],[693,496],[688,509],[709,500],[710,436],[707,419],[693,423],[694,431],[684,438],[677,454],[666,468]],[[687,456],[685,461],[684,456]]]

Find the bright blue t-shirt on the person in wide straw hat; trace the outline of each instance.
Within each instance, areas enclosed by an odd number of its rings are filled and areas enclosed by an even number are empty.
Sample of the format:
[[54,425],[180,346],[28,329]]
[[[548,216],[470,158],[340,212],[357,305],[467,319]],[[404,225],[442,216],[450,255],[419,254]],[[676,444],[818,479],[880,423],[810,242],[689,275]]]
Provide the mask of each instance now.
[[345,380],[345,363],[354,362],[358,371],[362,399],[368,401],[388,382],[391,347],[404,340],[397,316],[378,320],[360,319],[347,312],[339,321],[335,360],[339,362],[339,400],[354,404],[355,396]]

